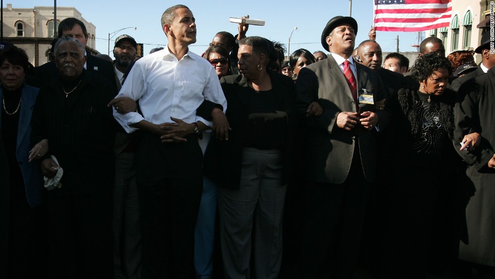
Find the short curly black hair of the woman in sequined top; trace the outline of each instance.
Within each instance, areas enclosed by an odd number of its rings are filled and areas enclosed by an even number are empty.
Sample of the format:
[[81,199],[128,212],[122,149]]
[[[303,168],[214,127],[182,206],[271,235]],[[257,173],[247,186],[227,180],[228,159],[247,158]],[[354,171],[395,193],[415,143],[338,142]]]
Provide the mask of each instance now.
[[418,82],[421,82],[429,78],[433,74],[433,71],[439,69],[447,69],[450,75],[452,73],[451,62],[438,52],[432,52],[416,59],[411,76]]

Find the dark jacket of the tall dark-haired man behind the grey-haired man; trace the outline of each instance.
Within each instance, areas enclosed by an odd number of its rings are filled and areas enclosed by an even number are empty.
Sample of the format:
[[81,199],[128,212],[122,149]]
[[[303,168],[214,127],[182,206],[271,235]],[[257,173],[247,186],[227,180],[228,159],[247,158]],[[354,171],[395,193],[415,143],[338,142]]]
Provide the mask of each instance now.
[[[115,72],[112,63],[103,60],[101,58],[94,57],[86,52],[86,70],[93,72],[103,78],[108,79],[115,88],[115,95],[117,95],[117,85],[115,84]],[[48,85],[53,79],[59,76],[59,71],[54,61],[50,61],[41,66],[34,68],[34,76],[28,79],[28,84],[34,87],[41,88],[44,85]]]

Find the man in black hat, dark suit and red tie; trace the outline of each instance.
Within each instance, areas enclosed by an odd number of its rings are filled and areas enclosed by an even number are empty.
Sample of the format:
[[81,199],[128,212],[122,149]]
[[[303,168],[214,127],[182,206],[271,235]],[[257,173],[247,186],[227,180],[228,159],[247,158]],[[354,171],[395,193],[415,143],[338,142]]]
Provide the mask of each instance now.
[[[296,81],[296,109],[307,131],[302,147],[305,278],[352,276],[370,183],[376,177],[375,135],[386,125],[388,113],[383,108],[375,112],[375,105],[386,94],[378,74],[352,58],[357,30],[354,18],[330,19],[321,35],[330,56],[303,68]],[[314,101],[323,114],[307,117]]]

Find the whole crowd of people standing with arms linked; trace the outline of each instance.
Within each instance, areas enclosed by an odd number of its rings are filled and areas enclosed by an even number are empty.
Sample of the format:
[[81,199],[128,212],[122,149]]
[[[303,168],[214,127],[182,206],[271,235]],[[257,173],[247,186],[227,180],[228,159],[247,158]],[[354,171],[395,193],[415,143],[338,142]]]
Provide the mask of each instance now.
[[2,43],[0,277],[493,278],[489,32],[410,67],[352,17],[287,61],[246,24],[192,53],[184,5],[161,26],[142,58],[76,18],[39,67]]

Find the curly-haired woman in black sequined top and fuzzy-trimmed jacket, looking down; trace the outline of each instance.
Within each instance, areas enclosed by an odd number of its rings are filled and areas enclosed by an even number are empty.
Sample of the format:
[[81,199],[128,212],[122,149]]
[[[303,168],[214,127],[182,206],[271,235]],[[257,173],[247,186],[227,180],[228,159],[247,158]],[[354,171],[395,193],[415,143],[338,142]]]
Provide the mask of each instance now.
[[423,55],[411,75],[419,87],[402,88],[397,98],[387,100],[392,112],[385,140],[388,164],[377,195],[383,206],[385,278],[423,278],[427,266],[455,258],[449,245],[461,159],[452,145],[456,96],[447,88],[451,71],[447,58]]

